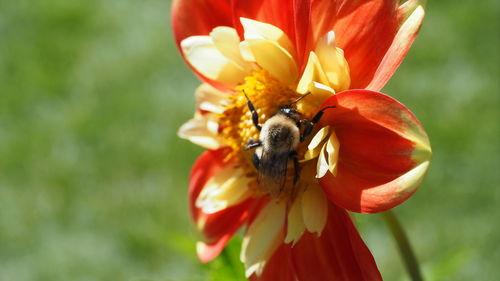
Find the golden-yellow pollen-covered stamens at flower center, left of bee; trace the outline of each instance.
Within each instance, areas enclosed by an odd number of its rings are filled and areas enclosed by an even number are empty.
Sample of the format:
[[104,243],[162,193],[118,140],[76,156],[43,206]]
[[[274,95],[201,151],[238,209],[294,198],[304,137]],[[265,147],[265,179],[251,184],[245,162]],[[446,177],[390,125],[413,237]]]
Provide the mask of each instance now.
[[[258,69],[253,71],[252,75],[245,77],[244,82],[237,86],[234,94],[229,97],[228,106],[219,118],[219,135],[231,148],[226,161],[235,161],[246,171],[248,177],[257,179],[258,174],[251,161],[254,151],[243,150],[249,141],[259,140],[259,130],[252,122],[252,113],[248,108],[245,94],[252,101],[261,125],[281,106],[291,103],[302,95],[285,86],[267,71]],[[304,118],[311,117],[310,113],[302,114]],[[254,190],[261,190],[258,188],[257,180],[250,186]]]

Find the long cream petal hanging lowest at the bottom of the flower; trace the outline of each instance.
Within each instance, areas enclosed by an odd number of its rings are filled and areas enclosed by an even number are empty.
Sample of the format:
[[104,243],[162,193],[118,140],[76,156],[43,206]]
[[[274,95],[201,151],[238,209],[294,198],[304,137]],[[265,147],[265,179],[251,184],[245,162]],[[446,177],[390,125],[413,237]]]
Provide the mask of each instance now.
[[269,202],[253,221],[243,238],[240,259],[247,277],[260,275],[274,251],[283,243],[286,206]]

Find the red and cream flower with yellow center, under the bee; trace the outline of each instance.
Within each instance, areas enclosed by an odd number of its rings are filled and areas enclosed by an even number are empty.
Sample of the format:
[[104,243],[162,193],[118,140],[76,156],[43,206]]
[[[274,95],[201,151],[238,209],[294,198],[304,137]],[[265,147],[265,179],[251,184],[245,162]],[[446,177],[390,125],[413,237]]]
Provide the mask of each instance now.
[[[215,258],[246,226],[241,260],[251,280],[381,280],[346,210],[376,213],[411,196],[429,166],[416,117],[379,93],[421,26],[418,0],[178,0],[178,47],[203,84],[179,135],[208,150],[190,176],[199,258]],[[304,97],[304,95],[306,95]],[[259,180],[265,124],[295,104],[313,133],[298,144],[281,189]],[[302,129],[304,130],[304,129]]]

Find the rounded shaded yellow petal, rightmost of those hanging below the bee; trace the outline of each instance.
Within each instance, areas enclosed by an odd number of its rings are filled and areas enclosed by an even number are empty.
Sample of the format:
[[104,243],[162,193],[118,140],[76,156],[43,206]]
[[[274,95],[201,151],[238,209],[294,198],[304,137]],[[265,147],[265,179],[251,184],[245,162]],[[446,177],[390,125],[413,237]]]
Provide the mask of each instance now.
[[328,218],[328,202],[318,184],[311,184],[302,194],[302,214],[309,232],[321,235]]

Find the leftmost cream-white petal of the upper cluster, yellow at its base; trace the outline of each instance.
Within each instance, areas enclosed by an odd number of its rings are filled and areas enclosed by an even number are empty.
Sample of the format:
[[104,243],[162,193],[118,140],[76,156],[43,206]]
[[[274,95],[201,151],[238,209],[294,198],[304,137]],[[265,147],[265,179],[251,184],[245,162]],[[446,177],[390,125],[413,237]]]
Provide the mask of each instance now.
[[237,63],[225,57],[215,46],[210,36],[191,36],[181,42],[187,61],[209,79],[230,87],[243,82],[248,74]]

